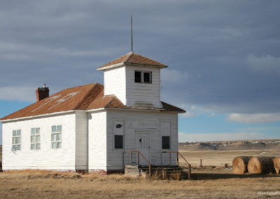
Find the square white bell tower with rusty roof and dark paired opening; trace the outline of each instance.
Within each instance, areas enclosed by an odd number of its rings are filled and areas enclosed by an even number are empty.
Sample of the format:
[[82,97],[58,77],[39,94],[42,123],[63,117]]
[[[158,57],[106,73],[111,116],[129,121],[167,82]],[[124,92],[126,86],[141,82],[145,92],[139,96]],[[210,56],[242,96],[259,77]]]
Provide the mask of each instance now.
[[116,95],[127,107],[162,108],[160,69],[167,65],[134,52],[104,64],[104,95]]

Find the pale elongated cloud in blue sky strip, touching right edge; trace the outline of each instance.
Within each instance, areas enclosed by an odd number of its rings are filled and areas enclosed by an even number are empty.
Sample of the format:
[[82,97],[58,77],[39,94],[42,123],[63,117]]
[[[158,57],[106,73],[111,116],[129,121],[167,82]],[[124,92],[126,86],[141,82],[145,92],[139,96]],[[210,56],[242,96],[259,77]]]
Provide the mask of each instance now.
[[280,113],[275,114],[230,114],[228,121],[238,123],[273,123],[280,121]]

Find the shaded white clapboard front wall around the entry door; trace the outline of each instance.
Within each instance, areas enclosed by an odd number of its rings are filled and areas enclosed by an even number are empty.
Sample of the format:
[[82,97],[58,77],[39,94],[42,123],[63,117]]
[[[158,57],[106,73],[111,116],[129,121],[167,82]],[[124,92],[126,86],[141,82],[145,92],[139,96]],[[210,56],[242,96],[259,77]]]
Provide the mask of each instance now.
[[[125,149],[113,149],[114,121],[125,121]],[[162,150],[160,124],[170,122],[171,149]],[[169,155],[162,151],[178,151],[178,114],[140,111],[107,111],[107,165],[108,170],[123,169],[123,152],[135,151],[136,131],[146,132],[150,139],[149,160],[153,165],[168,165]],[[130,156],[127,156],[130,157]],[[172,155],[172,165],[176,164],[176,154]]]

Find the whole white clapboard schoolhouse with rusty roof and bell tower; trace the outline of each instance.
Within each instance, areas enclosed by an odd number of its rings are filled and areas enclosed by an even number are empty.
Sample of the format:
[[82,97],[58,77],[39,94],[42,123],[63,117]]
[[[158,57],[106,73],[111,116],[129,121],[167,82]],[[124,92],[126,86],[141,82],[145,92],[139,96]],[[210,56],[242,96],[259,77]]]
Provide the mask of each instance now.
[[[121,171],[140,151],[151,165],[168,165],[178,151],[178,114],[160,99],[160,70],[167,65],[130,52],[97,70],[104,85],[67,88],[0,119],[3,170]],[[172,164],[176,165],[176,153]],[[139,158],[140,165],[146,165]]]

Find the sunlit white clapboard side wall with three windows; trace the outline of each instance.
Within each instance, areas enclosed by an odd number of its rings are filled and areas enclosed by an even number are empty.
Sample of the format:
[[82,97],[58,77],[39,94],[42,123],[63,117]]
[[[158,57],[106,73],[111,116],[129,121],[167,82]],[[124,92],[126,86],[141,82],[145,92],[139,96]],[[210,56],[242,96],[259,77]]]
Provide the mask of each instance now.
[[[3,123],[3,170],[75,170],[75,114]],[[62,125],[62,149],[51,149],[51,127]],[[40,128],[41,149],[30,149],[31,128]],[[13,130],[21,130],[21,150],[11,151]]]

